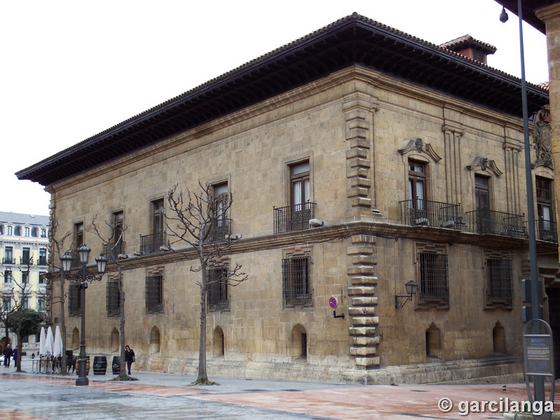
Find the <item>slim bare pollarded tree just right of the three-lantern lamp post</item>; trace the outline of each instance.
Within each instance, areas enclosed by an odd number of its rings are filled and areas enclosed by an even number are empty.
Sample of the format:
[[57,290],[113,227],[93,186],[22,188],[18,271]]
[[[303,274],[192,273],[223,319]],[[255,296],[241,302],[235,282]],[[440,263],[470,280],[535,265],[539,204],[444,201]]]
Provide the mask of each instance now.
[[92,229],[93,232],[101,241],[103,242],[105,256],[109,258],[109,262],[112,262],[117,267],[117,278],[118,283],[118,304],[120,310],[120,322],[119,322],[119,345],[120,345],[120,374],[116,378],[119,381],[130,381],[136,380],[127,375],[126,363],[125,363],[125,288],[123,286],[123,262],[120,260],[119,255],[123,253],[124,246],[124,234],[127,227],[123,225],[122,221],[117,218],[113,218],[111,221],[105,221],[105,225],[109,227],[109,235],[104,236],[99,232],[99,228],[96,223],[97,216],[92,218]]

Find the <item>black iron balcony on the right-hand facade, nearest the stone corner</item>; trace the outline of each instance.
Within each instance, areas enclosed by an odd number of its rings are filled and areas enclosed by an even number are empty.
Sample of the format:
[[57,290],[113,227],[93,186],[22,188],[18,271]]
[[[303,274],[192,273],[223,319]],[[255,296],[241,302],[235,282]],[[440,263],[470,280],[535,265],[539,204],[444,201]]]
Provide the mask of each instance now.
[[409,226],[432,226],[461,230],[463,214],[461,204],[430,200],[405,200],[399,202],[401,222]]

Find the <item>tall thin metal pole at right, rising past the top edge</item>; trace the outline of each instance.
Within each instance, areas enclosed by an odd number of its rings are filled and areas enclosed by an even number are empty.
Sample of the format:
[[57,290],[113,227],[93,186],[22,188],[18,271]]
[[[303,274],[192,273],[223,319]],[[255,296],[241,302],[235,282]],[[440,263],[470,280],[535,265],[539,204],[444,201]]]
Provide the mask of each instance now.
[[[537,244],[535,235],[535,209],[533,204],[533,174],[531,174],[531,145],[529,144],[529,127],[527,111],[527,88],[525,80],[525,54],[523,48],[523,16],[521,0],[517,0],[517,16],[519,17],[519,52],[521,54],[521,107],[523,111],[523,135],[525,146],[525,181],[527,184],[527,217],[529,241],[529,269],[531,270],[531,310],[532,319],[541,319],[538,287]],[[535,384],[535,401],[545,401],[545,379],[533,376]]]

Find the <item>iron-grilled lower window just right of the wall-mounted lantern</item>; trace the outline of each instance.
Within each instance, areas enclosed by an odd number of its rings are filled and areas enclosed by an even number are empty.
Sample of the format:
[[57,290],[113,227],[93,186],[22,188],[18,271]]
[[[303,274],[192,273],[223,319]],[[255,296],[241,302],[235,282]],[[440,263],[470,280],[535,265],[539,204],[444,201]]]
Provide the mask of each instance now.
[[449,304],[449,272],[447,254],[419,253],[419,304]]

